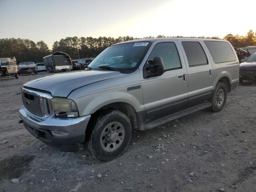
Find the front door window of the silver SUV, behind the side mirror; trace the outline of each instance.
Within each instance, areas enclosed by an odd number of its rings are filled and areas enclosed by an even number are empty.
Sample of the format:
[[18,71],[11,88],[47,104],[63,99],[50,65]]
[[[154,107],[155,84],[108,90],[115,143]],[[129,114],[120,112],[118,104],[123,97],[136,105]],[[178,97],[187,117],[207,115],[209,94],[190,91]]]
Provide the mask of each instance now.
[[148,60],[154,57],[161,57],[164,62],[164,70],[174,70],[182,68],[180,56],[174,42],[162,42],[154,46]]

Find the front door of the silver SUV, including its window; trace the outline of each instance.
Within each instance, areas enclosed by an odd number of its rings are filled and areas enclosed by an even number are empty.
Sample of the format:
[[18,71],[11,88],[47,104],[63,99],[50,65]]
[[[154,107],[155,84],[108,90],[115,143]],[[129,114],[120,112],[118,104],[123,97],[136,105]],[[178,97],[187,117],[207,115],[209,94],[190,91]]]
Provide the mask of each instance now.
[[180,48],[177,49],[174,42],[157,43],[148,60],[154,57],[162,58],[164,73],[146,79],[142,77],[147,121],[183,110],[188,102],[187,70]]

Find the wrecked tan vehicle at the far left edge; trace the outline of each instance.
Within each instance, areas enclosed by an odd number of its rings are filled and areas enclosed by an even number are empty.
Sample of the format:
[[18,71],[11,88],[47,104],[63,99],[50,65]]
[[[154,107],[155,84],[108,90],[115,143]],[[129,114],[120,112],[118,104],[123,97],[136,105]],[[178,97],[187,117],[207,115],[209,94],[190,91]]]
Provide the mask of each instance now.
[[16,79],[19,78],[15,57],[0,58],[0,77],[8,75],[13,75]]

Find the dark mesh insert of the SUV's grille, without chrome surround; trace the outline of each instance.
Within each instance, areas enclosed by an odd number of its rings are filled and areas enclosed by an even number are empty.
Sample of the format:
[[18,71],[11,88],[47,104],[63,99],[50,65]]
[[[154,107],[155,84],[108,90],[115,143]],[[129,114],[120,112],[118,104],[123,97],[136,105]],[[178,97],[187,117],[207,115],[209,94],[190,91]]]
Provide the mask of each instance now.
[[22,92],[22,100],[25,108],[29,112],[41,117],[43,116],[42,108],[41,108],[41,100],[39,96]]

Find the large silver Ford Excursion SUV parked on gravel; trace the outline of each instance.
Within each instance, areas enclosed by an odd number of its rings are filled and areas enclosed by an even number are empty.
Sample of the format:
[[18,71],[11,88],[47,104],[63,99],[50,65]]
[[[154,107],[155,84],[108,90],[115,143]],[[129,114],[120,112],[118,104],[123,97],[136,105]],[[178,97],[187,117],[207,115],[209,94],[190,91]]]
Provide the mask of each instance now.
[[84,142],[95,158],[113,160],[126,150],[133,128],[156,128],[204,108],[219,112],[238,82],[239,62],[228,41],[122,42],[83,71],[24,84],[20,122],[49,146],[75,151]]

